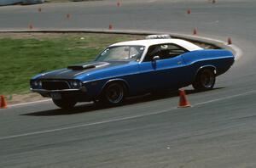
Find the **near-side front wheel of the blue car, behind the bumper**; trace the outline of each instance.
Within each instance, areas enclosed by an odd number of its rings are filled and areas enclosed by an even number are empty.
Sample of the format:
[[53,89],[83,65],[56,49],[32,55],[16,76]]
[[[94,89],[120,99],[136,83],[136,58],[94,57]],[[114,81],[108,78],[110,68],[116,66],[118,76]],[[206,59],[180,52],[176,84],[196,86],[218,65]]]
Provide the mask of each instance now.
[[112,82],[105,87],[102,100],[108,105],[121,104],[125,99],[125,87],[122,83]]

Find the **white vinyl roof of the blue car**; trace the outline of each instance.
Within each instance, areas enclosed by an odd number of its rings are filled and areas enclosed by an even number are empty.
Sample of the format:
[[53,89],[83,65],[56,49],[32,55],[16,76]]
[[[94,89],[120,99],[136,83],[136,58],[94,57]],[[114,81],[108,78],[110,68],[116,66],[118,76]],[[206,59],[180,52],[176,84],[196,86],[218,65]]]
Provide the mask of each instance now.
[[195,44],[181,40],[181,39],[147,39],[147,40],[135,40],[135,41],[127,41],[127,42],[118,42],[112,44],[110,47],[113,46],[145,46],[148,48],[149,46],[156,45],[156,44],[163,44],[163,43],[173,43],[177,44],[178,46],[181,46],[183,48],[186,48],[189,51],[195,51],[195,50],[201,50],[203,48],[200,48],[199,46],[196,46]]

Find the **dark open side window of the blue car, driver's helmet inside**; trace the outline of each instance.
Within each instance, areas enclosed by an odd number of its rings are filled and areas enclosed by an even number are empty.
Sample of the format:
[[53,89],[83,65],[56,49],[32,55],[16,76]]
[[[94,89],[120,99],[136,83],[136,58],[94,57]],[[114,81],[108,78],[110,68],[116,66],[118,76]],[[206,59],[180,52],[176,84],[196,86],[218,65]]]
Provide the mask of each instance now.
[[159,56],[160,59],[172,59],[180,54],[186,53],[187,50],[174,44],[160,44],[150,46],[144,62],[152,61],[154,56]]

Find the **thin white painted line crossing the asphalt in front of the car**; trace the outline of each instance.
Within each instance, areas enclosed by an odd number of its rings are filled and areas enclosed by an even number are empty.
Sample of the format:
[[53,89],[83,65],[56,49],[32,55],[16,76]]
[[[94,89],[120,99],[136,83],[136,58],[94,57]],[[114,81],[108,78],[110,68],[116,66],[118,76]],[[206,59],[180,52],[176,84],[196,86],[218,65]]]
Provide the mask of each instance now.
[[[240,97],[240,96],[250,95],[250,94],[253,94],[253,93],[256,93],[256,90],[249,91],[249,92],[243,92],[243,93],[236,94],[236,95],[229,96],[229,97],[212,99],[212,100],[209,100],[209,101],[206,101],[206,102],[201,102],[201,103],[195,104],[195,106],[199,106],[199,105],[203,105],[203,104],[210,104],[210,103],[213,103],[213,102],[218,102],[218,101],[225,100],[225,99],[230,99],[230,98],[237,98],[237,97]],[[195,107],[195,106],[193,106],[193,107]],[[56,128],[56,129],[52,129],[52,130],[45,130],[45,131],[41,131],[41,132],[29,132],[29,133],[18,134],[18,135],[13,135],[13,136],[0,137],[0,141],[1,140],[6,140],[6,139],[11,139],[11,138],[16,138],[16,137],[26,137],[26,136],[33,136],[33,135],[38,135],[38,134],[50,133],[50,132],[60,132],[60,131],[64,131],[64,130],[70,130],[70,129],[80,128],[80,127],[85,127],[85,126],[96,126],[96,125],[107,124],[107,123],[110,123],[110,122],[117,122],[117,121],[122,121],[122,120],[131,120],[131,119],[136,119],[136,118],[149,116],[149,115],[159,115],[159,114],[162,114],[162,113],[172,111],[174,109],[177,109],[177,108],[175,107],[175,108],[172,108],[172,109],[161,110],[161,111],[157,111],[157,112],[153,112],[153,113],[148,113],[148,114],[145,114],[145,115],[134,115],[134,116],[123,117],[123,118],[114,119],[114,120],[103,120],[103,121],[99,121],[99,122],[93,122],[93,123],[89,123],[89,124],[82,124],[82,125],[78,125],[78,126],[67,126],[67,127]]]

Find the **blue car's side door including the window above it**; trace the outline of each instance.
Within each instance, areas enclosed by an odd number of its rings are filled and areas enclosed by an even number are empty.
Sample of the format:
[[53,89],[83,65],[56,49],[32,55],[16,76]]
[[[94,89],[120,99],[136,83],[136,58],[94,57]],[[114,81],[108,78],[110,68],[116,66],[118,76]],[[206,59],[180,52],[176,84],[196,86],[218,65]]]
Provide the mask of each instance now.
[[149,47],[140,64],[140,78],[145,89],[178,88],[185,79],[181,55],[186,52],[186,49],[172,43]]

